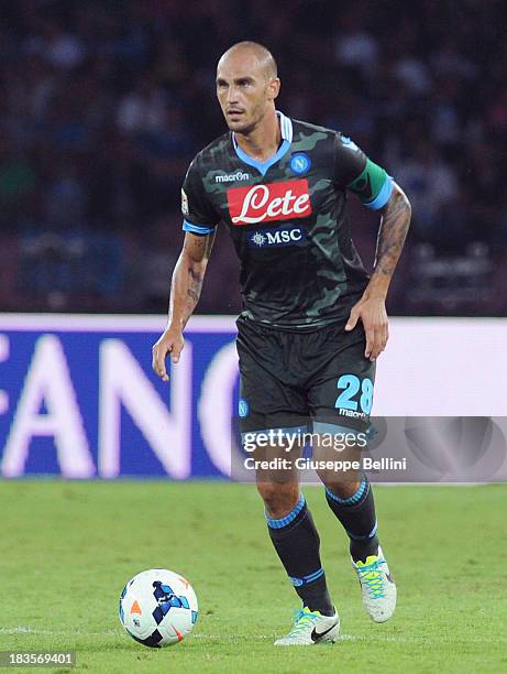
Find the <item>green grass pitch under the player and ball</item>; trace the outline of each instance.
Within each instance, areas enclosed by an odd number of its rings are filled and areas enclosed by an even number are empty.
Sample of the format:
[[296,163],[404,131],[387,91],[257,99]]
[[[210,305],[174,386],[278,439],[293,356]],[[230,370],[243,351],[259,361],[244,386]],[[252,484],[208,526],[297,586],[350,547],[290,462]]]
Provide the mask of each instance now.
[[[0,483],[0,650],[77,651],[75,671],[106,674],[507,671],[507,485],[376,489],[398,584],[385,624],[363,611],[322,489],[305,493],[342,619],[334,645],[273,646],[298,601],[254,487],[30,480]],[[184,574],[199,600],[194,634],[169,649],[118,619],[124,583],[151,567]]]

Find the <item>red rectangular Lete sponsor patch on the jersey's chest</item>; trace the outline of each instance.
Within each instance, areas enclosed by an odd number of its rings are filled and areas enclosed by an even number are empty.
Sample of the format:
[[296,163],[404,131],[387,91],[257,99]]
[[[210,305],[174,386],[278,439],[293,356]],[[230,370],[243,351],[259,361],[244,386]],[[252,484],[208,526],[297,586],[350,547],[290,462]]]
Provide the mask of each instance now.
[[227,198],[233,225],[293,220],[311,214],[307,178],[253,187],[231,187]]

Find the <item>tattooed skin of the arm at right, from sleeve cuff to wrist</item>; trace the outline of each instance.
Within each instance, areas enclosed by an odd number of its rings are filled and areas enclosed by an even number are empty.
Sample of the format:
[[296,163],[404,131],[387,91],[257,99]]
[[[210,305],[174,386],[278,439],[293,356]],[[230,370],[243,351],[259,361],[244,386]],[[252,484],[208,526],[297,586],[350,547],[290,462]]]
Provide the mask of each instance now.
[[381,221],[373,275],[393,275],[410,225],[410,213],[409,200],[396,189]]

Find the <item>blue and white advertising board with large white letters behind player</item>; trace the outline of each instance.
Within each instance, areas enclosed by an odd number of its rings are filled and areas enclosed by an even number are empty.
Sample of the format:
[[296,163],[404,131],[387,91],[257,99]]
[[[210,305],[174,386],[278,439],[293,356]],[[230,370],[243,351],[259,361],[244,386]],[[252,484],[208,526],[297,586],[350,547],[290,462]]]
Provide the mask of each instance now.
[[[234,318],[192,317],[168,384],[151,368],[164,323],[161,316],[0,315],[2,477],[229,476],[238,410]],[[392,319],[374,414],[397,416],[396,427],[399,417],[507,416],[506,344],[507,319]]]

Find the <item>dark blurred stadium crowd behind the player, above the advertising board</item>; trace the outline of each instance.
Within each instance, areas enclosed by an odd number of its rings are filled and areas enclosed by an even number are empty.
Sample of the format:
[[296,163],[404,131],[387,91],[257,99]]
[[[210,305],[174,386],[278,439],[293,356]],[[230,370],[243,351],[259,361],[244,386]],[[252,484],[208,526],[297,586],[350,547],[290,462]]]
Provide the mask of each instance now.
[[[179,189],[223,133],[221,53],[257,40],[279,109],[342,130],[407,192],[392,314],[506,315],[502,0],[0,2],[0,309],[164,313]],[[378,215],[351,198],[371,268]],[[239,311],[219,232],[200,312]]]

